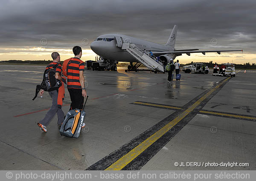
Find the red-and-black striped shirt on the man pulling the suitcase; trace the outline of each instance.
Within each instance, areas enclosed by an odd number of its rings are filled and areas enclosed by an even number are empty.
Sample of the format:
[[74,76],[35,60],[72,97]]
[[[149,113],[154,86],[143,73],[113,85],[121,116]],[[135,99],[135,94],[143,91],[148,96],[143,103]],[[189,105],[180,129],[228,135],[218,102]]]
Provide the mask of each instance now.
[[79,71],[84,71],[84,62],[79,58],[72,58],[67,65],[67,88],[81,89]]

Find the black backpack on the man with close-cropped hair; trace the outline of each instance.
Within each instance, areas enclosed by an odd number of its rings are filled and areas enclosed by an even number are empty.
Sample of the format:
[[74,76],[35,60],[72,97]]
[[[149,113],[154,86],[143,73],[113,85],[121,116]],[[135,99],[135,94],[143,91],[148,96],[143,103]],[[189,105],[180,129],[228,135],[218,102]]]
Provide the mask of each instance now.
[[43,81],[42,81],[41,85],[36,86],[35,97],[32,99],[33,101],[37,97],[38,92],[40,91],[40,89],[43,89],[44,91],[50,92],[50,91],[57,90],[58,88],[61,87],[61,85],[62,85],[61,81],[55,78],[56,68],[59,64],[60,63],[57,63],[52,68],[46,69],[44,71]]

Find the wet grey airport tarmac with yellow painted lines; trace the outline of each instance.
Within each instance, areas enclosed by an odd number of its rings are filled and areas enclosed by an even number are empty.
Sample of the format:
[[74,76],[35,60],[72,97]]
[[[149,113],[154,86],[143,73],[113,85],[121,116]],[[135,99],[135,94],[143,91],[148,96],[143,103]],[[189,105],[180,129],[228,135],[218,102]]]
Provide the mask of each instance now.
[[[1,170],[256,170],[255,70],[181,72],[169,84],[167,74],[85,70],[86,127],[67,138],[56,115],[47,133],[37,126],[51,105],[47,92],[32,101],[44,69],[0,65]],[[243,166],[205,167],[228,162]]]

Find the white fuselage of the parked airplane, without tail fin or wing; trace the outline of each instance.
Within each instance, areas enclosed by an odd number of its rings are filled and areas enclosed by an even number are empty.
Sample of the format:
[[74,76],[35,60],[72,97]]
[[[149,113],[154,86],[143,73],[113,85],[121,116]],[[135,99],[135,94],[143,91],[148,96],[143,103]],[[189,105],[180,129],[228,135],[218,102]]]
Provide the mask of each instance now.
[[122,37],[124,42],[129,42],[135,44],[138,48],[144,51],[144,49],[149,52],[168,52],[173,51],[173,48],[165,45],[160,45],[158,43],[153,43],[146,40],[141,40],[139,38],[126,36],[123,34],[104,34],[96,38],[93,43],[91,43],[90,48],[97,55],[106,58],[108,60],[116,60],[119,62],[137,62],[137,60],[132,57],[125,49],[121,49],[116,46],[115,37]]

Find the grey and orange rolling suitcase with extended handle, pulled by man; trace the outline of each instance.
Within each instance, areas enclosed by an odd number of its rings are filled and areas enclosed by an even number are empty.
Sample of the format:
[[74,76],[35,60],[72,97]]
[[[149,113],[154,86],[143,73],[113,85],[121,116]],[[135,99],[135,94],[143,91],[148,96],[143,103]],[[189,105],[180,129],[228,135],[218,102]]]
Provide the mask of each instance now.
[[[86,97],[87,102],[88,96]],[[84,107],[80,109],[72,109],[67,112],[67,115],[61,125],[60,133],[61,136],[67,136],[70,138],[78,138],[81,132],[81,128],[84,122],[85,111]]]

